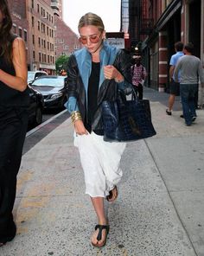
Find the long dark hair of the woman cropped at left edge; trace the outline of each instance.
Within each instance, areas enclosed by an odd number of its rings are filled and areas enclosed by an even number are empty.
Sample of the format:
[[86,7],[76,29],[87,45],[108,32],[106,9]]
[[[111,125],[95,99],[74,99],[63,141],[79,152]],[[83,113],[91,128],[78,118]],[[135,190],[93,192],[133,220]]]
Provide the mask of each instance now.
[[0,1],[0,10],[3,14],[3,22],[0,26],[0,56],[3,55],[5,61],[12,61],[12,19],[7,0]]

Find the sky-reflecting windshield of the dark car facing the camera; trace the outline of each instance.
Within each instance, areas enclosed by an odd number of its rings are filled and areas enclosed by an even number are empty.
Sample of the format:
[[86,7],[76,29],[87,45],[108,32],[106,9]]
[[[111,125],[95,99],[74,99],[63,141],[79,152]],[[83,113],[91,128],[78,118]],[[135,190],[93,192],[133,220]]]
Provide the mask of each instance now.
[[35,80],[33,86],[52,86],[52,87],[63,87],[65,77],[60,78],[41,78]]

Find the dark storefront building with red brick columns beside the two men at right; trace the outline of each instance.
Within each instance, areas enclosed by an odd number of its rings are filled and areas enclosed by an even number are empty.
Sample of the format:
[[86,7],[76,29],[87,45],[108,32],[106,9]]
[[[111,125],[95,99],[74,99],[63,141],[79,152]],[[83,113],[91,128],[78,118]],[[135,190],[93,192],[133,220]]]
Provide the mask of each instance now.
[[[123,1],[123,0],[122,0]],[[129,4],[134,7],[134,0]],[[138,0],[129,8],[132,44],[142,42],[143,60],[149,72],[149,85],[169,92],[169,60],[175,53],[174,43],[194,43],[194,54],[203,61],[204,1],[202,0]],[[135,35],[131,35],[131,34]],[[200,88],[200,103],[203,96]]]

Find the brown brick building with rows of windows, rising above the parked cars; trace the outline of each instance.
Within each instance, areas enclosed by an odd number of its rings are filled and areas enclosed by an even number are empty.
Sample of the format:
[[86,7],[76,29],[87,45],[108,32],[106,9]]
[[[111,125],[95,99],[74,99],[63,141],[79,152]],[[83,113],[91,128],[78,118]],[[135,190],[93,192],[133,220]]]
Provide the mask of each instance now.
[[29,21],[30,70],[54,74],[54,13],[48,0],[26,0]]

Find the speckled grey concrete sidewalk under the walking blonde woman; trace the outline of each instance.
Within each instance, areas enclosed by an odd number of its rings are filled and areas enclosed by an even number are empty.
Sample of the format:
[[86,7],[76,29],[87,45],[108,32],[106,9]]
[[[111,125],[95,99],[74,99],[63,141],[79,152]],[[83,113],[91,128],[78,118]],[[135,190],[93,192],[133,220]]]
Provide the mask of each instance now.
[[17,235],[0,248],[1,256],[204,255],[204,111],[187,127],[179,99],[167,116],[168,94],[146,88],[144,97],[157,134],[127,144],[118,200],[105,202],[106,246],[90,244],[97,222],[68,118],[22,157]]

